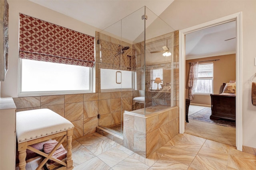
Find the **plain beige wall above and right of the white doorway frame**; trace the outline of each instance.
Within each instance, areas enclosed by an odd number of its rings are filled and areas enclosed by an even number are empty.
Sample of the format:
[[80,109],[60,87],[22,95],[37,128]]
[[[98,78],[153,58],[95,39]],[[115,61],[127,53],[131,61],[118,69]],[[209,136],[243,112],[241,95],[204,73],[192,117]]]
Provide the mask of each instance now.
[[242,143],[256,148],[256,106],[251,102],[256,44],[255,0],[175,0],[160,15],[175,30],[212,21],[237,12],[242,12]]

